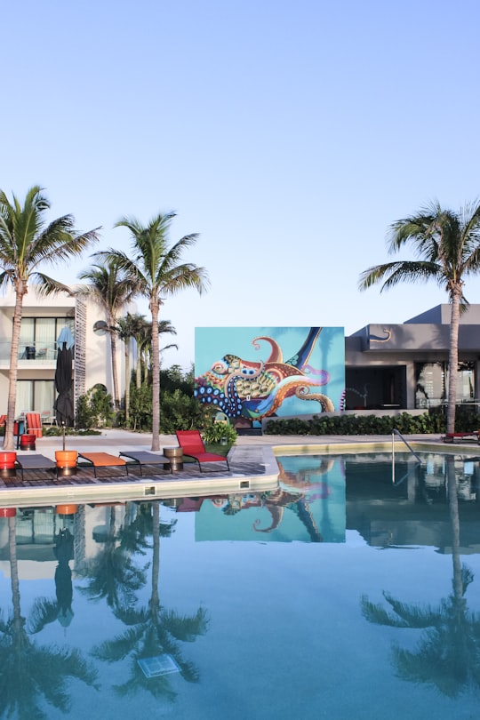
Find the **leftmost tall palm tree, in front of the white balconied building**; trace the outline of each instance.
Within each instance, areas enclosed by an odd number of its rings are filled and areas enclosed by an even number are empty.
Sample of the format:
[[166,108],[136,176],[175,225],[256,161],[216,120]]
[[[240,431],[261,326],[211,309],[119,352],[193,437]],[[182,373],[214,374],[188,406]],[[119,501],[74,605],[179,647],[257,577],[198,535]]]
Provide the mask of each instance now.
[[12,284],[15,292],[5,450],[13,450],[20,323],[28,282],[34,280],[38,284],[37,292],[44,297],[60,291],[70,294],[66,285],[44,275],[39,268],[46,262],[55,264],[72,260],[98,240],[100,228],[77,235],[72,215],[64,215],[47,224],[45,212],[49,208],[50,203],[38,186],[28,190],[23,205],[14,195],[11,203],[0,190],[0,289]]

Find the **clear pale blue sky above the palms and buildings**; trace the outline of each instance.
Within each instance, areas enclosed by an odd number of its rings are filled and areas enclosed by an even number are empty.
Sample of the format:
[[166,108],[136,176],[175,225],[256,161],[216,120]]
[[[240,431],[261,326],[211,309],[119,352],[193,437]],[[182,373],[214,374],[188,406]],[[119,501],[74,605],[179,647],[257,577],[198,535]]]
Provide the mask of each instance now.
[[480,195],[477,0],[16,0],[1,21],[0,188],[42,185],[97,249],[128,248],[123,215],[200,234],[211,288],[165,304],[164,364],[196,325],[350,333],[446,301],[357,282],[391,222]]

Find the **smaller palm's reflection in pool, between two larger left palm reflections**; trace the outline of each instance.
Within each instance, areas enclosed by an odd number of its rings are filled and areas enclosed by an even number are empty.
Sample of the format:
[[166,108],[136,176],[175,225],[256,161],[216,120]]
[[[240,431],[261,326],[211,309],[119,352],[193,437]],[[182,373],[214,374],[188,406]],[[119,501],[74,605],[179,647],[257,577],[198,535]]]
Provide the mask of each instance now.
[[145,584],[146,576],[145,571],[132,562],[130,553],[117,543],[115,520],[115,507],[112,507],[107,540],[92,561],[81,568],[81,574],[89,580],[79,589],[92,600],[106,598],[108,605],[117,610],[135,602],[135,591]]

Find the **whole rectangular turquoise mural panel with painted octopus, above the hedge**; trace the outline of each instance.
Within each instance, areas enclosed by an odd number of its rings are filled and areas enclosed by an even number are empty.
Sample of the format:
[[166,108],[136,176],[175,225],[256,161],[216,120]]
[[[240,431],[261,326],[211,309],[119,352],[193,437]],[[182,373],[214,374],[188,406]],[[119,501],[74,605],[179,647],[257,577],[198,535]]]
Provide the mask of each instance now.
[[195,351],[195,396],[230,419],[340,409],[343,328],[196,328]]

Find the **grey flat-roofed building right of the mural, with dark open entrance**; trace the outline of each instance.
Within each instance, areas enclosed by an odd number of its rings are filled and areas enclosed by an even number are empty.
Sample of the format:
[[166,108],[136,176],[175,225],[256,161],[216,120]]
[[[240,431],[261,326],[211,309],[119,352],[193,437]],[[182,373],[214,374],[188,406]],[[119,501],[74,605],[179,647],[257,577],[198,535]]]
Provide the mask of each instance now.
[[[404,324],[369,324],[345,339],[347,409],[425,409],[448,388],[450,305]],[[457,402],[477,404],[480,305],[460,317]]]

